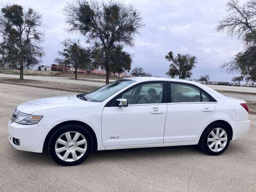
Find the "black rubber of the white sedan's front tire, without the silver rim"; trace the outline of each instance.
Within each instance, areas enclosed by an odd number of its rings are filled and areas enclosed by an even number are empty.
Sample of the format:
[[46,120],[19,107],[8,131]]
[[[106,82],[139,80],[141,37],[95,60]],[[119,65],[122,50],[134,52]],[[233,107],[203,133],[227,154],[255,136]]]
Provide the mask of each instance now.
[[[67,161],[63,161],[55,153],[55,143],[56,143],[57,139],[60,137],[60,135],[62,135],[63,133],[72,132],[72,131],[79,132],[79,133],[83,134],[83,136],[85,137],[85,139],[87,141],[87,148],[86,148],[84,155],[81,158],[77,159],[76,161],[67,162]],[[65,166],[77,165],[79,163],[82,163],[91,154],[92,147],[93,147],[93,140],[92,140],[92,136],[91,136],[90,132],[87,131],[84,126],[78,125],[78,124],[62,125],[55,132],[53,132],[53,134],[51,135],[49,142],[48,142],[48,151],[49,151],[51,158],[56,163],[58,163],[60,165],[65,165]]]

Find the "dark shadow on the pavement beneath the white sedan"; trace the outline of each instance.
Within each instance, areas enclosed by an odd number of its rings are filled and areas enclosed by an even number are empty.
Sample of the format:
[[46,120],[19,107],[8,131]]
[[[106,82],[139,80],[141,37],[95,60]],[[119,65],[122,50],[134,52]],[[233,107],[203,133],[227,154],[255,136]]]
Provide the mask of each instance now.
[[[234,143],[235,144],[235,143]],[[226,155],[230,153],[236,153],[239,150],[236,145],[229,146],[230,150],[225,151]],[[134,148],[134,149],[117,149],[117,150],[102,150],[93,151],[81,165],[99,164],[106,162],[128,162],[128,161],[144,161],[146,159],[159,159],[168,158],[178,159],[184,157],[207,157],[209,155],[204,154],[194,146],[173,146],[173,147],[153,147],[153,148]],[[224,154],[223,154],[224,155]],[[43,153],[32,153],[27,151],[11,150],[10,157],[13,163],[22,165],[47,165],[47,166],[59,166],[49,156],[47,150]]]

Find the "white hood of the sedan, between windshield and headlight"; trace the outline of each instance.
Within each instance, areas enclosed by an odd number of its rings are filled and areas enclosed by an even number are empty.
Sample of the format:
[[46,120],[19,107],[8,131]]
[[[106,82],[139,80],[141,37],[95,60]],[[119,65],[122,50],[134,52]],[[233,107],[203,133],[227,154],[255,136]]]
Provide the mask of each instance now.
[[88,102],[78,99],[76,95],[50,97],[22,103],[17,107],[17,110],[25,114],[33,114],[42,110],[86,105]]

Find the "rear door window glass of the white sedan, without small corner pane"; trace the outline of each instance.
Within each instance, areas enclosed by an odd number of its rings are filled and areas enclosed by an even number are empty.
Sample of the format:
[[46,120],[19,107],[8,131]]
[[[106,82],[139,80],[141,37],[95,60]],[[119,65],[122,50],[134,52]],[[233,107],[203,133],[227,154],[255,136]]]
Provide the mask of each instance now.
[[200,102],[200,90],[191,85],[171,83],[172,102]]

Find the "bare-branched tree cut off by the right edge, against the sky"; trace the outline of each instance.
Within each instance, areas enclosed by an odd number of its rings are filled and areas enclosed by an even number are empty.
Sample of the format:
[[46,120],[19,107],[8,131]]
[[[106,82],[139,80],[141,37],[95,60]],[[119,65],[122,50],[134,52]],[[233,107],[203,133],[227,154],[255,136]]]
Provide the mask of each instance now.
[[217,31],[226,31],[241,40],[245,50],[237,53],[231,61],[223,63],[221,68],[228,73],[240,72],[247,75],[256,66],[256,0],[244,4],[238,0],[229,0],[227,12],[227,17],[219,22]]

